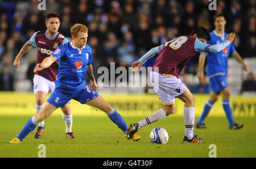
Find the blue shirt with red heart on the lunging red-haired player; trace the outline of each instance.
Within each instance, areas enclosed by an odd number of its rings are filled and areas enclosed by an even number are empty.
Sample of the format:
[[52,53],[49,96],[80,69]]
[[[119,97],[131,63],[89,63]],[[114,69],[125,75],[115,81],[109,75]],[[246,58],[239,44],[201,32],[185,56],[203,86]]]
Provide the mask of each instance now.
[[86,66],[92,64],[92,48],[74,47],[71,42],[61,45],[51,56],[59,60],[55,87],[65,92],[79,92],[86,86]]

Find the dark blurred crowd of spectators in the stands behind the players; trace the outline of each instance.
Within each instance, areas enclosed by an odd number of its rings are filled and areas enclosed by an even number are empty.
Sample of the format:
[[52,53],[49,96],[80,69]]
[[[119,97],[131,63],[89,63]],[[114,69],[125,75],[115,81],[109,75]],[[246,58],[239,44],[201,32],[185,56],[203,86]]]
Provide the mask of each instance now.
[[[60,29],[71,40],[69,29],[75,23],[89,28],[88,44],[93,50],[94,74],[97,68],[129,67],[152,47],[163,44],[179,35],[189,34],[196,26],[214,29],[213,16],[224,14],[226,32],[235,32],[234,46],[243,58],[255,57],[255,18],[256,1],[221,1],[217,10],[208,9],[208,0],[47,0],[46,11],[38,10],[38,0],[0,0],[0,90],[12,91],[15,74],[13,61],[23,44],[36,31],[46,29],[45,16],[49,12],[60,15]],[[28,52],[27,78],[32,79],[36,52]],[[189,75],[196,77],[199,57],[193,57],[181,74],[184,82]],[[151,58],[144,66],[152,66]],[[187,84],[189,86],[189,83]],[[208,83],[191,84],[191,91],[209,92]]]

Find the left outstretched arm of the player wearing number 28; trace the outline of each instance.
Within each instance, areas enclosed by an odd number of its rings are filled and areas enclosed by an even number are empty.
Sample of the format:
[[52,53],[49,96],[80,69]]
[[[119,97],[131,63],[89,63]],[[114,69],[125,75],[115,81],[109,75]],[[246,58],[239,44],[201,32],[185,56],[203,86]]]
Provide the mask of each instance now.
[[163,49],[163,44],[160,45],[159,47],[151,48],[150,50],[148,50],[148,52],[145,53],[138,61],[131,64],[131,71],[137,71],[139,68],[141,68],[144,62],[146,62],[156,54],[160,53],[162,49]]

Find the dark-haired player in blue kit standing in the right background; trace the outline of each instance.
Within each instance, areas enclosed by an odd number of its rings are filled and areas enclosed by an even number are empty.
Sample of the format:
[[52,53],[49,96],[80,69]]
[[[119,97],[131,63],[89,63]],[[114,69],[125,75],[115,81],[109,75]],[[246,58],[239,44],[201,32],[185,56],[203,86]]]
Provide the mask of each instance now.
[[[224,15],[218,14],[214,16],[214,31],[210,32],[210,41],[208,44],[219,44],[225,40],[228,33],[225,32],[226,20]],[[233,119],[233,112],[230,107],[230,91],[228,83],[226,82],[226,75],[228,73],[228,57],[232,53],[233,57],[240,62],[245,71],[248,71],[248,66],[243,62],[240,54],[237,53],[233,43],[228,45],[225,49],[218,53],[201,53],[199,57],[199,81],[204,79],[204,62],[207,56],[207,75],[210,82],[210,98],[205,103],[203,113],[196,123],[196,128],[206,128],[204,120],[207,117],[213,104],[218,100],[220,94],[222,95],[222,106],[229,121],[229,129],[241,129],[242,124],[236,124]]]

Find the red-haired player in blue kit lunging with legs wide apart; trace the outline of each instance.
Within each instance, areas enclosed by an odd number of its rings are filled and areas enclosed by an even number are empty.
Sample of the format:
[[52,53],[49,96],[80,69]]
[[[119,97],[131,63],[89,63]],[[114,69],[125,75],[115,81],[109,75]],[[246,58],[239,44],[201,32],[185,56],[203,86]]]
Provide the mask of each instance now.
[[[71,99],[101,109],[123,133],[126,133],[128,128],[125,120],[95,91],[97,83],[93,75],[92,49],[86,44],[88,28],[84,24],[75,24],[71,28],[71,35],[71,42],[61,45],[51,56],[36,65],[34,71],[40,71],[59,60],[56,88],[42,110],[27,121],[18,136],[13,138],[10,143],[20,143],[36,128],[39,122],[49,117],[58,107],[64,107]],[[90,79],[90,87],[85,82],[86,71]],[[132,139],[138,141],[141,136],[134,134]]]

